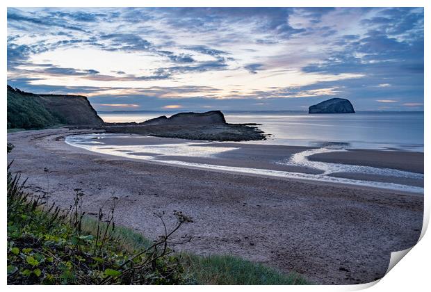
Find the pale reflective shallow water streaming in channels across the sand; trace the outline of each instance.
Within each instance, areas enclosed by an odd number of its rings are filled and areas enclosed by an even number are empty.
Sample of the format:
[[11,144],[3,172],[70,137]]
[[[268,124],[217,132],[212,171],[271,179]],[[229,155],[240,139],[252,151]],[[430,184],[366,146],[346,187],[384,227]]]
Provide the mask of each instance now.
[[[371,186],[376,188],[385,188],[390,190],[402,190],[412,193],[423,193],[423,188],[418,186],[407,186],[403,184],[393,184],[389,182],[378,182],[378,181],[362,181],[358,179],[345,179],[341,177],[331,177],[330,175],[336,172],[352,172],[369,175],[384,175],[389,177],[400,177],[409,179],[423,179],[423,175],[414,172],[405,172],[401,170],[393,170],[389,168],[373,168],[369,166],[360,165],[345,165],[340,163],[325,163],[318,161],[309,161],[308,156],[323,152],[334,152],[343,151],[343,147],[340,145],[330,145],[327,147],[320,147],[318,149],[309,149],[292,156],[287,156],[284,159],[275,161],[278,164],[302,166],[308,168],[316,168],[321,170],[323,173],[319,175],[311,175],[301,172],[287,172],[280,170],[261,169],[261,168],[243,168],[243,167],[232,167],[225,165],[213,165],[207,163],[191,163],[179,160],[165,160],[161,159],[163,156],[193,156],[201,158],[215,158],[217,155],[224,152],[228,152],[238,147],[217,147],[209,146],[209,143],[202,141],[184,141],[179,140],[179,143],[163,143],[161,138],[160,144],[152,145],[128,145],[127,139],[136,138],[137,136],[124,136],[118,134],[86,134],[77,136],[68,136],[66,143],[75,147],[81,147],[88,149],[93,152],[99,152],[103,154],[110,154],[115,156],[123,156],[129,159],[142,159],[146,161],[155,161],[159,163],[167,163],[170,165],[180,165],[193,168],[204,168],[211,170],[221,170],[228,172],[240,172],[245,174],[253,175],[267,175],[272,177],[285,177],[294,179],[307,179],[314,181],[327,181],[332,183],[343,183],[352,184],[357,186]],[[145,136],[138,136],[145,139]],[[106,138],[124,139],[122,145],[112,145],[104,143]],[[144,143],[143,143],[144,144]],[[202,145],[202,146],[201,146]]]

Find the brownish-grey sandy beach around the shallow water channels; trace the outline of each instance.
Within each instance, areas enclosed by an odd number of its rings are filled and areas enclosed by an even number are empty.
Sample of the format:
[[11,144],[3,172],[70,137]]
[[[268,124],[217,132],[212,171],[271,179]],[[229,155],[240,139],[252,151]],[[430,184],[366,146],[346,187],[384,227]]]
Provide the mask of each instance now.
[[[177,249],[236,254],[286,273],[295,270],[317,284],[355,284],[380,278],[391,252],[411,247],[421,233],[423,195],[418,193],[163,163],[211,161],[226,167],[320,175],[322,170],[307,164],[271,162],[313,150],[311,147],[205,143],[197,147],[229,150],[208,157],[172,154],[146,161],[139,156],[159,154],[134,152],[133,159],[65,143],[65,136],[92,132],[61,128],[9,133],[8,143],[15,148],[8,161],[14,161],[13,172],[29,177],[29,192],[47,192],[49,201],[65,208],[72,203],[74,188],[86,193],[84,207],[90,215],[110,197],[119,197],[117,224],[149,238],[156,238],[163,229],[154,212],[165,211],[170,216],[174,210],[183,211],[195,222],[177,236],[187,234],[193,240]],[[147,139],[147,143],[158,145],[158,139],[165,138]],[[421,152],[352,150],[314,154],[310,161],[423,173]],[[361,178],[348,172],[330,176],[400,183],[399,178],[380,173]],[[405,177],[401,183],[421,187],[423,179]],[[173,220],[173,216],[168,219]]]

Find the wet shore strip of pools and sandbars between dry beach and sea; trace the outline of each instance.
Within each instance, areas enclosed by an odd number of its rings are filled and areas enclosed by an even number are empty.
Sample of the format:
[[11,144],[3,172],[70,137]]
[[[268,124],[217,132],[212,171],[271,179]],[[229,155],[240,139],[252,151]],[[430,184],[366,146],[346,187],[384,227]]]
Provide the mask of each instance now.
[[[419,152],[393,154],[375,150],[371,152],[374,163],[369,159],[363,163],[370,150],[202,142],[112,133],[70,136],[65,142],[99,154],[183,168],[423,193],[423,154]],[[320,159],[326,154],[330,154],[330,159]],[[405,161],[409,161],[407,169]]]

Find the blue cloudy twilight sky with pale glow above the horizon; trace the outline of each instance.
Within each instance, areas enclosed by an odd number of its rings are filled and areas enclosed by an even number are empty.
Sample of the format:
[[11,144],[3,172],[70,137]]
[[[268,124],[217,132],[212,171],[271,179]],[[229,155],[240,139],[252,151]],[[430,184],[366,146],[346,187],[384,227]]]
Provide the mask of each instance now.
[[8,84],[97,111],[423,111],[423,8],[8,8]]

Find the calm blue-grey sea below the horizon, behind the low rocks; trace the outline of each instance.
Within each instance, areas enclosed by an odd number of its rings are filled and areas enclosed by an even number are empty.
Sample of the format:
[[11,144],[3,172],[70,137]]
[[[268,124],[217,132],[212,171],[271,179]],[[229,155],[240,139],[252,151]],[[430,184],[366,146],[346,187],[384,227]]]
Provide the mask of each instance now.
[[[99,113],[105,122],[143,122],[174,112]],[[423,112],[372,112],[309,115],[302,111],[225,112],[229,123],[258,123],[277,145],[405,149],[423,152]]]

